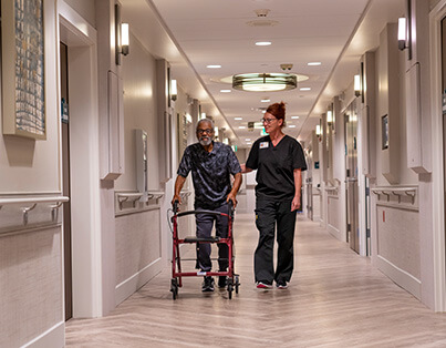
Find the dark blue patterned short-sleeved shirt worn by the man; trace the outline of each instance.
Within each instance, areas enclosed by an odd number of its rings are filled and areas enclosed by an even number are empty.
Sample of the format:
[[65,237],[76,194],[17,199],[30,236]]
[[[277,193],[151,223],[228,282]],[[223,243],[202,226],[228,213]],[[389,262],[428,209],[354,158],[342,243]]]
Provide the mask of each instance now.
[[186,147],[177,174],[187,177],[193,172],[195,208],[214,209],[221,206],[231,191],[230,174],[241,172],[229,145],[212,142],[211,152],[200,143]]

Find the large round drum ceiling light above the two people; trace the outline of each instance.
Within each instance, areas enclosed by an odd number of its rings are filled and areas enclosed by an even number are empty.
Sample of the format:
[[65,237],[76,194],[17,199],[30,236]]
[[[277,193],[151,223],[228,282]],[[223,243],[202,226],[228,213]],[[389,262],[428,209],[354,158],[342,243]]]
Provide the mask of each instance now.
[[295,74],[247,73],[232,76],[232,88],[248,92],[273,92],[293,90],[298,86]]

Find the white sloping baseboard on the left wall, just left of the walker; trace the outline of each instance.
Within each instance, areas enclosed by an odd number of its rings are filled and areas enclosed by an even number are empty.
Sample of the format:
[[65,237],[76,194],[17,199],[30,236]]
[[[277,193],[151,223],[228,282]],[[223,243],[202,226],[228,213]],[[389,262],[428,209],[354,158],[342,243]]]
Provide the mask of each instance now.
[[121,304],[124,299],[129,297],[138,290],[144,284],[155,277],[163,269],[162,258],[155,259],[153,263],[134,274],[132,277],[125,279],[123,283],[116,285],[115,288],[115,304]]

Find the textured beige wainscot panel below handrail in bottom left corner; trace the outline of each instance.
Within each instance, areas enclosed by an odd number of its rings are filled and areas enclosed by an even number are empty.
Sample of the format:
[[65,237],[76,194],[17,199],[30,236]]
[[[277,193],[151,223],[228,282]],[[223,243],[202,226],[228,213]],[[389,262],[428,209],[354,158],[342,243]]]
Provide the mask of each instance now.
[[0,347],[63,346],[62,264],[60,226],[0,235]]

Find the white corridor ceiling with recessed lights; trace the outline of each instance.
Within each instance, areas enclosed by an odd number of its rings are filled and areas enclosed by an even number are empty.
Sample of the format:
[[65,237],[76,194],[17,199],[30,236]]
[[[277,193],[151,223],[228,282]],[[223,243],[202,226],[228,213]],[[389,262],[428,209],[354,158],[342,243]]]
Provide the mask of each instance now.
[[[121,2],[132,33],[152,54],[169,61],[179,88],[200,100],[203,110],[239,147],[249,147],[260,136],[259,130],[248,130],[248,122],[259,121],[262,108],[280,101],[287,103],[284,132],[305,140],[330,100],[351,85],[361,55],[377,47],[385,23],[404,13],[404,0]],[[267,17],[259,17],[259,10],[268,10],[261,11]],[[271,44],[259,47],[258,41]],[[282,71],[283,63],[292,69]],[[295,90],[268,93],[234,90],[221,81],[253,72],[291,72],[309,79]],[[270,102],[261,102],[267,98]]]

